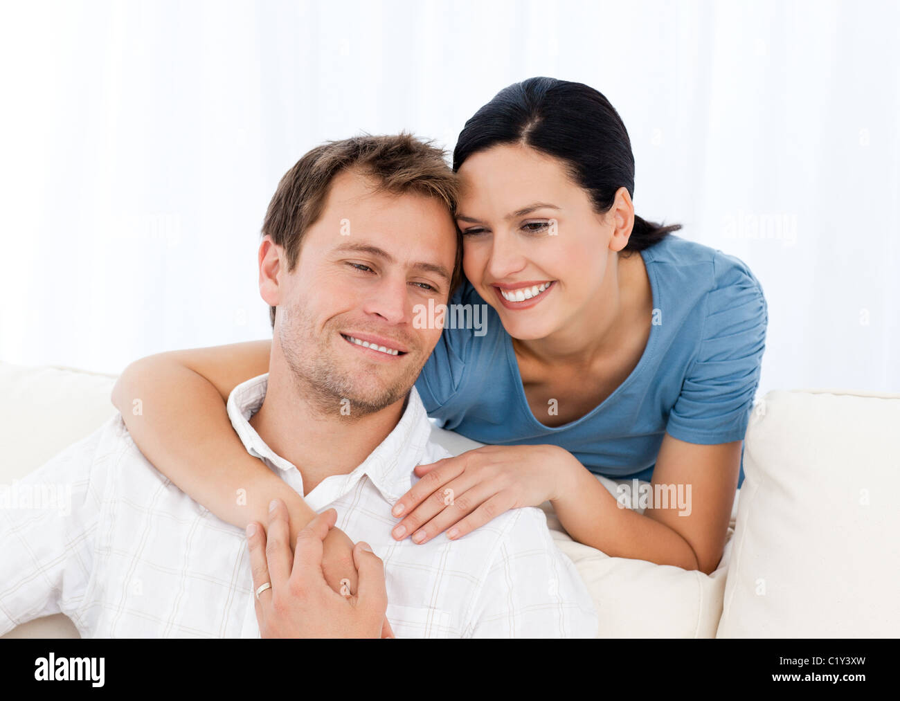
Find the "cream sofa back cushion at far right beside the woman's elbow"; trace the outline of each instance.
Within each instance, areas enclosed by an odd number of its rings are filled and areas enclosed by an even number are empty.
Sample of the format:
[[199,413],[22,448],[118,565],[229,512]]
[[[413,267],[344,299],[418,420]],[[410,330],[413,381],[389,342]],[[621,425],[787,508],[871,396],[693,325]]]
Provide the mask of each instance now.
[[717,637],[900,630],[900,395],[770,391],[752,412]]

